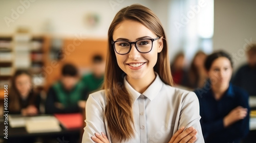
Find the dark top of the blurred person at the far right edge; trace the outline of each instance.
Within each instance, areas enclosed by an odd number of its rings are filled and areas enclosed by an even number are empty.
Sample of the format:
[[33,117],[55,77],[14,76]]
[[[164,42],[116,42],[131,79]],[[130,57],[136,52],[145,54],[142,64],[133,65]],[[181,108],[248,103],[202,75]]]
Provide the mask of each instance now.
[[256,96],[256,68],[248,64],[238,69],[232,83],[247,90],[250,96]]

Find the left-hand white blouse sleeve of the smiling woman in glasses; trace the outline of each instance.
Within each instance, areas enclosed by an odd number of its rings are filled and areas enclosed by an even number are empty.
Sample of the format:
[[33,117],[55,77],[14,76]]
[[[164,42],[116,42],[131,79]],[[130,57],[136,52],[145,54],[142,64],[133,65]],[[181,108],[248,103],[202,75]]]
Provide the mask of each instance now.
[[94,133],[103,132],[108,136],[110,140],[109,134],[106,133],[105,124],[104,124],[104,110],[103,106],[99,104],[91,94],[87,100],[86,104],[86,127],[84,127],[84,132],[82,136],[82,143],[89,143],[94,141],[91,139],[94,136]]

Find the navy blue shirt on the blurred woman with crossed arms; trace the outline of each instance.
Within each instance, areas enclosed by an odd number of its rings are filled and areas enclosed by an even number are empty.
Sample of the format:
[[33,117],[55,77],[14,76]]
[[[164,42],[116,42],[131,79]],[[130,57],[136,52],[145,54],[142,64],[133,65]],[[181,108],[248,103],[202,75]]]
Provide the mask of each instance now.
[[[197,94],[200,104],[201,126],[205,142],[240,142],[249,132],[249,112],[248,93],[229,84],[227,91],[220,100],[216,100],[207,82],[204,88],[197,88],[194,92]],[[237,106],[248,109],[247,116],[227,128],[224,128],[224,117]]]

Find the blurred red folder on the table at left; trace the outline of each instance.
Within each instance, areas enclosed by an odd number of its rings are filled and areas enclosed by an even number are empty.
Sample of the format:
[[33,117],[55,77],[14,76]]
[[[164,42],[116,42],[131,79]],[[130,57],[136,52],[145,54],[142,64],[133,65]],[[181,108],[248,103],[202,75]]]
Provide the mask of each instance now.
[[82,127],[82,115],[80,113],[54,114],[60,124],[66,129],[75,129]]

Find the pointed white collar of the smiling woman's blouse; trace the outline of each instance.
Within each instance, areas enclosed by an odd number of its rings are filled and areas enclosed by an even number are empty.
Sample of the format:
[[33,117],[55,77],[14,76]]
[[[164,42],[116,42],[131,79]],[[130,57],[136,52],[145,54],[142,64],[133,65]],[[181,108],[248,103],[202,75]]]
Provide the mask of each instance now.
[[[163,82],[158,76],[158,74],[155,72],[156,78],[153,81],[153,83],[148,86],[148,88],[142,93],[143,96],[150,99],[150,101],[154,100],[154,98],[157,96],[158,92],[161,90],[163,86]],[[126,77],[124,77],[124,87],[126,90],[131,94],[132,102],[134,103],[139,96],[141,96],[141,93],[136,91],[130,84],[127,82]]]

